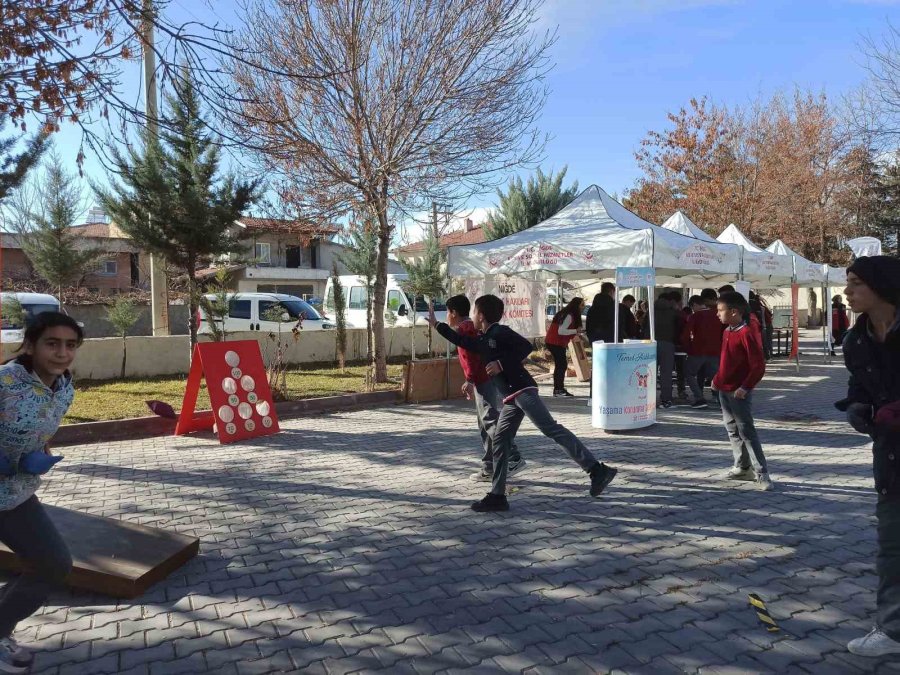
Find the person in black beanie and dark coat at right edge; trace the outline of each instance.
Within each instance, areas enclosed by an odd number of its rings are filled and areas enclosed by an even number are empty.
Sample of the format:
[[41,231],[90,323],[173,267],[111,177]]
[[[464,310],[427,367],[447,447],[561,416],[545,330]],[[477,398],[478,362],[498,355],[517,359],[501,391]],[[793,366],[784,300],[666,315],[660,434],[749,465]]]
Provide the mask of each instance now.
[[850,371],[847,398],[835,406],[872,437],[878,502],[878,590],[875,628],[851,640],[860,656],[900,654],[900,259],[858,258],[844,291],[859,319],[843,342]]

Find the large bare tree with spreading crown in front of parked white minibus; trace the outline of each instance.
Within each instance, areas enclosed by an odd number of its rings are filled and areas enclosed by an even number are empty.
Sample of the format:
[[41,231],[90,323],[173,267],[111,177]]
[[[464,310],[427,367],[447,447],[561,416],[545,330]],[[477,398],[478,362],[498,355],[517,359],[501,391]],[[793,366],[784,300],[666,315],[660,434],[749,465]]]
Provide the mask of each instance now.
[[253,0],[247,9],[232,133],[305,217],[355,211],[377,223],[379,382],[393,216],[484,193],[543,150],[535,123],[552,36],[535,35],[541,2]]

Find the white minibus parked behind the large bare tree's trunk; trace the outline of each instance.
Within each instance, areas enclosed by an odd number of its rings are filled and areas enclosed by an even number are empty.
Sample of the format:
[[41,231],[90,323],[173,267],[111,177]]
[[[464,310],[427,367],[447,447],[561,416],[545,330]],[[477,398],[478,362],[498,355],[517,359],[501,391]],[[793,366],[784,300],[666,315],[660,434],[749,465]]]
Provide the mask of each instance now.
[[[346,306],[347,326],[351,328],[366,327],[366,283],[363,277],[354,275],[344,275],[338,277],[341,280],[341,286],[344,288],[344,304]],[[412,325],[412,308],[416,310],[416,325],[422,326],[426,323],[428,316],[428,301],[423,296],[416,297],[415,305],[410,302],[406,291],[401,288],[401,284],[406,281],[406,274],[388,274],[387,293],[385,296],[385,306],[382,311],[385,316],[388,314],[393,317],[395,326],[411,326]],[[333,281],[329,277],[328,283],[325,285],[325,304],[326,312],[334,315],[334,286]],[[447,305],[444,304],[444,298],[434,299],[434,315],[438,321],[447,320]]]

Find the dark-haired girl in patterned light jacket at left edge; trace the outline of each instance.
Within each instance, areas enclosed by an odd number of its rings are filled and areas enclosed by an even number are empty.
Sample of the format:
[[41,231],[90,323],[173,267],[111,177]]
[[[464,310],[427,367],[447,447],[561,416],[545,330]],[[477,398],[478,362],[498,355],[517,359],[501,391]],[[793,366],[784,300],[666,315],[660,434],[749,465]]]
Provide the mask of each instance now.
[[69,549],[35,493],[41,474],[62,459],[50,455],[48,442],[72,404],[69,366],[83,339],[71,317],[38,314],[21,354],[0,366],[0,541],[28,569],[0,595],[0,673],[28,670],[31,654],[12,633],[72,569]]

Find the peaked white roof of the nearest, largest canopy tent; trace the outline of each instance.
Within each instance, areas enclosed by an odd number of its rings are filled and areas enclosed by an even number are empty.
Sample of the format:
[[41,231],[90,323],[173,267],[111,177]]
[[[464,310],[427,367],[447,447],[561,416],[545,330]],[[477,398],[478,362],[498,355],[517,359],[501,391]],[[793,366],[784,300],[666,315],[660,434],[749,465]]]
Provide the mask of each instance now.
[[662,282],[733,281],[734,246],[705,242],[642,220],[596,185],[552,218],[482,244],[451,246],[450,276],[608,278],[617,267],[654,267]]

